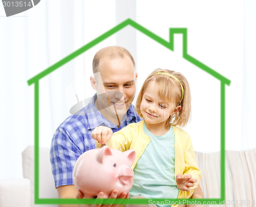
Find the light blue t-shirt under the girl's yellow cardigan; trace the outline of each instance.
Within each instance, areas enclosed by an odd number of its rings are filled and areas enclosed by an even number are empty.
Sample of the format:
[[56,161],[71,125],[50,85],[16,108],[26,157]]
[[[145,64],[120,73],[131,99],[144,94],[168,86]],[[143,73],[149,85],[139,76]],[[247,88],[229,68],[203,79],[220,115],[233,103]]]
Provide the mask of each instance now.
[[162,135],[152,134],[144,123],[144,132],[151,138],[134,168],[134,184],[130,195],[146,198],[177,198],[175,183],[175,135],[173,126]]

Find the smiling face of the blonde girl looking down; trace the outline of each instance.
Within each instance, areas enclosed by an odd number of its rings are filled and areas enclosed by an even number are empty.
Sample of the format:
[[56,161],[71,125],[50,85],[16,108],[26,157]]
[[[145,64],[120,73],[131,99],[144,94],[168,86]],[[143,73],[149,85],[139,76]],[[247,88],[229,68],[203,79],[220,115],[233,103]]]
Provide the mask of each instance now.
[[169,116],[173,116],[179,109],[179,106],[175,108],[172,103],[158,95],[158,85],[155,81],[148,84],[140,105],[140,111],[146,123],[164,125]]

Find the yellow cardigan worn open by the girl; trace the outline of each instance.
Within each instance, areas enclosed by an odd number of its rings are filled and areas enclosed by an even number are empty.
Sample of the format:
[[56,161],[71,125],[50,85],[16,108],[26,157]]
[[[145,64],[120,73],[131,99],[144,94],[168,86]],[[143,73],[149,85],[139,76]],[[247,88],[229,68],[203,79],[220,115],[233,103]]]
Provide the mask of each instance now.
[[[144,121],[131,123],[120,131],[113,134],[112,138],[106,143],[112,149],[126,151],[135,149],[136,159],[133,168],[136,166],[140,156],[143,154],[151,138],[144,133]],[[178,173],[191,174],[193,178],[197,178],[198,182],[189,191],[179,191],[178,198],[190,198],[193,194],[193,189],[198,186],[201,179],[200,169],[197,167],[196,154],[191,143],[189,135],[177,126],[174,127],[175,134],[175,177]],[[100,144],[96,142],[96,148]],[[161,150],[161,149],[159,149]]]

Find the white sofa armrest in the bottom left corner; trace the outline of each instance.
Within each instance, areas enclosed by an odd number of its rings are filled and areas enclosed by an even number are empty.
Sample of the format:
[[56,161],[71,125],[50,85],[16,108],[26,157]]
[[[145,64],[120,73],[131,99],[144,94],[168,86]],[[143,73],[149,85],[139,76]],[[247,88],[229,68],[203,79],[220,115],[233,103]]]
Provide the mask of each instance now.
[[31,195],[29,179],[0,179],[0,206],[30,207]]

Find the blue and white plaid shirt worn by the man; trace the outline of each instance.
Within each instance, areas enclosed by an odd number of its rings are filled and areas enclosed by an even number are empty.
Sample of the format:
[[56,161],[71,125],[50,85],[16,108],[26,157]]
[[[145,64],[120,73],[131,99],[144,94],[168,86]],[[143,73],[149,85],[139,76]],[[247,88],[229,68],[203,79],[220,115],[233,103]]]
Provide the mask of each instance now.
[[106,120],[97,110],[94,105],[95,98],[96,95],[86,107],[63,121],[53,136],[50,160],[55,188],[74,185],[73,169],[76,160],[83,152],[95,148],[95,140],[91,137],[95,127],[105,125],[112,128],[114,133],[130,123],[140,121],[134,106],[131,105],[120,126],[117,127],[109,120]]

